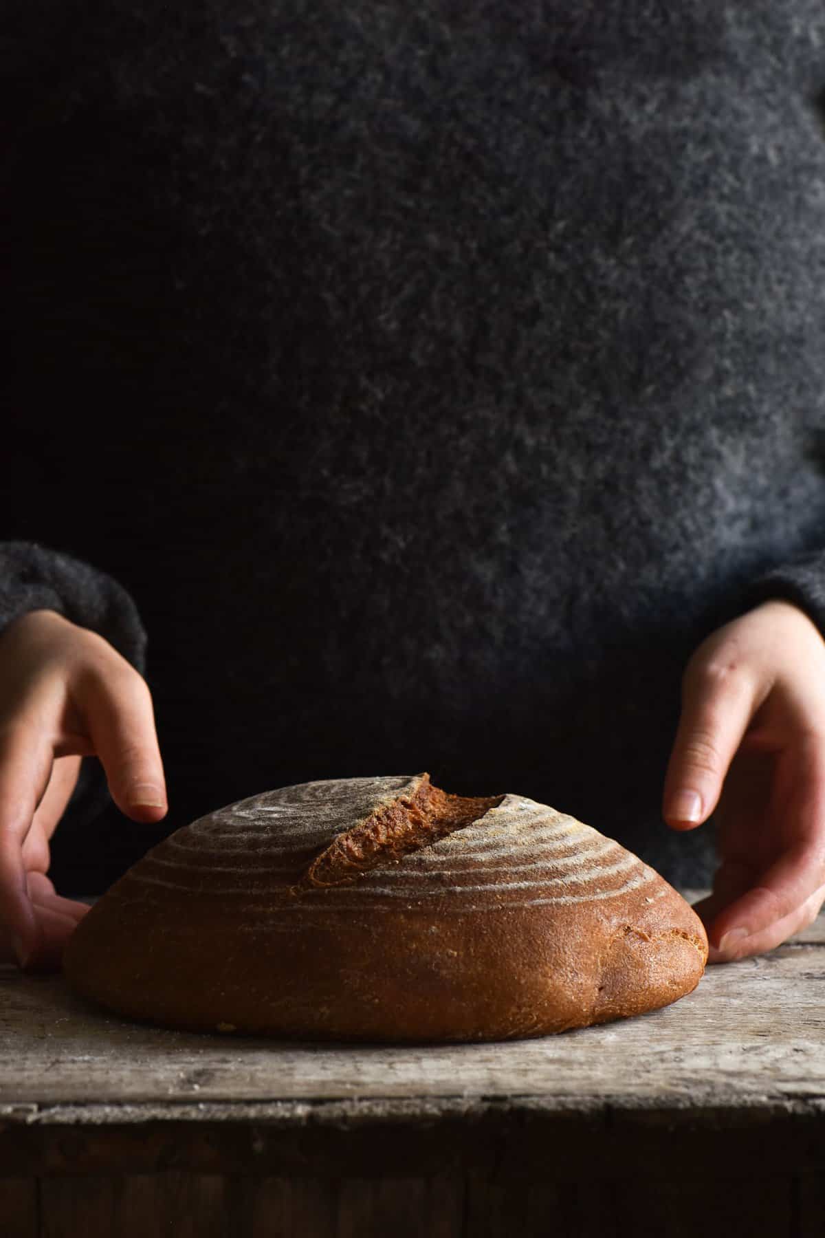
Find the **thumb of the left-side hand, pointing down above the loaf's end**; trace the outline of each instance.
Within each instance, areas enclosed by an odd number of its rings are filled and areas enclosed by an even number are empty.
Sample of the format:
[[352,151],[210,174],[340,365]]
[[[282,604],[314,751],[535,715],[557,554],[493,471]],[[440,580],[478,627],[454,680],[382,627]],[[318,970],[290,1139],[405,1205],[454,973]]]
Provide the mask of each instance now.
[[118,667],[87,670],[72,695],[118,807],[129,817],[160,821],[167,812],[166,780],[146,681]]

